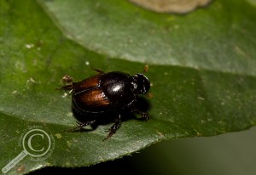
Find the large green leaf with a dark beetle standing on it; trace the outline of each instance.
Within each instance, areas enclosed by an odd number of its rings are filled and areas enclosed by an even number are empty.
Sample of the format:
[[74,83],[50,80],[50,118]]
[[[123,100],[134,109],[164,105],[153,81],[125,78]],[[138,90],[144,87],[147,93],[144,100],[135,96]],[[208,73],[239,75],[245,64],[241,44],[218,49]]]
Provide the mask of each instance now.
[[[118,0],[0,1],[0,167],[20,154],[33,128],[49,134],[51,152],[27,155],[11,174],[90,166],[166,139],[254,126],[255,17],[244,0],[216,0],[186,15]],[[68,132],[75,126],[71,97],[55,88],[66,74],[76,81],[95,75],[88,63],[130,74],[147,63],[150,120],[124,121],[104,142],[112,123]],[[45,144],[38,140],[35,149]]]

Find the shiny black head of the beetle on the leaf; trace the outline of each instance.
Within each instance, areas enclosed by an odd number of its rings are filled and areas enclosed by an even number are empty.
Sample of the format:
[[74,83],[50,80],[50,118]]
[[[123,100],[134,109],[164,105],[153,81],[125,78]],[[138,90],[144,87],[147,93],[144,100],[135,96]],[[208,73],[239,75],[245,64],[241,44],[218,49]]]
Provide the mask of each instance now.
[[131,76],[131,88],[136,94],[145,94],[150,88],[150,82],[147,76],[136,74]]

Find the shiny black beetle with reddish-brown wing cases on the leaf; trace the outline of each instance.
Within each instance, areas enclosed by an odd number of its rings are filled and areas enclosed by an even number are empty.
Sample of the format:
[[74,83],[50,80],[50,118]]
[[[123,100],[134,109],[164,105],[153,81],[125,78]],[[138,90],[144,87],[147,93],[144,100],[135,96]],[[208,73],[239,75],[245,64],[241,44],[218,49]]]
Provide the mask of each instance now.
[[115,122],[109,129],[108,137],[115,133],[121,124],[121,117],[125,111],[137,112],[148,120],[148,113],[137,110],[135,102],[139,94],[145,94],[150,88],[150,82],[144,72],[131,76],[120,71],[104,71],[94,69],[97,74],[81,82],[73,82],[70,76],[64,76],[63,82],[68,83],[61,90],[71,90],[73,116],[78,121],[79,129],[111,115]]

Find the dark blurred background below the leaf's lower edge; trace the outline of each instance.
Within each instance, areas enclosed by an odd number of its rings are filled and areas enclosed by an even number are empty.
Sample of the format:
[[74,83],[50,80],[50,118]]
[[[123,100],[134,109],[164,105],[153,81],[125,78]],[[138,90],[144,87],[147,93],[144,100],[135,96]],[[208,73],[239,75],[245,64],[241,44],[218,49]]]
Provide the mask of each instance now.
[[154,144],[140,153],[93,167],[48,167],[32,174],[255,175],[256,127],[208,138]]

